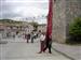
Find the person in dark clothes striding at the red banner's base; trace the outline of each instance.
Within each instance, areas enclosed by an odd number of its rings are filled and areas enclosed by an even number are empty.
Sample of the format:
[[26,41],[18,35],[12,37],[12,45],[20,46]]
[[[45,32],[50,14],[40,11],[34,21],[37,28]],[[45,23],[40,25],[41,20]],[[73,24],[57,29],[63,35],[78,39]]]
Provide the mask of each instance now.
[[43,52],[49,48],[49,52],[52,54],[51,48],[52,48],[52,34],[49,36],[46,35],[45,39],[45,47],[43,48]]

